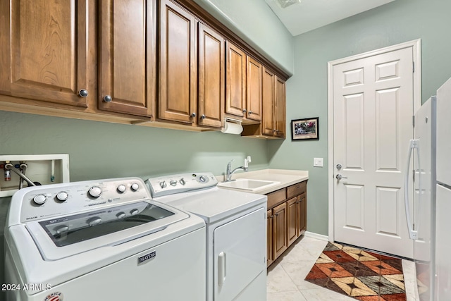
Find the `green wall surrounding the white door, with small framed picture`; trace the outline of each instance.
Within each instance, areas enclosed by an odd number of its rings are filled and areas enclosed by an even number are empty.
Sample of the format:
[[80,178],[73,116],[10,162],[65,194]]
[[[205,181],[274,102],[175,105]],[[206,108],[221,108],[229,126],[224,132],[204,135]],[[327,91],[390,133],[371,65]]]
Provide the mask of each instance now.
[[[271,168],[309,171],[307,229],[328,234],[327,63],[421,39],[422,100],[451,77],[451,1],[397,0],[295,37],[295,74],[287,82],[287,128],[319,116],[318,141],[269,142]],[[289,130],[288,130],[289,131]],[[323,157],[324,167],[313,167]]]

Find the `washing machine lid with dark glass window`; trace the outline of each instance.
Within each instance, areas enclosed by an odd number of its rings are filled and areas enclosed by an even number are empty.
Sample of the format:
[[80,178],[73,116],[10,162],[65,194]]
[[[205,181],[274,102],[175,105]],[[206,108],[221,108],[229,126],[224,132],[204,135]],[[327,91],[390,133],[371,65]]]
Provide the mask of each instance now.
[[25,227],[42,258],[57,260],[163,231],[188,217],[175,208],[148,201],[33,221]]

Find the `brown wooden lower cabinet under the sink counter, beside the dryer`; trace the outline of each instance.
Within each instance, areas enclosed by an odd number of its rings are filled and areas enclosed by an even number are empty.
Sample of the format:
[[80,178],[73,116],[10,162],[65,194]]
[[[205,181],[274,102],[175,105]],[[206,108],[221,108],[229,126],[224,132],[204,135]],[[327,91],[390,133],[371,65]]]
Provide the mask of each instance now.
[[269,266],[307,229],[307,181],[269,193],[266,218]]

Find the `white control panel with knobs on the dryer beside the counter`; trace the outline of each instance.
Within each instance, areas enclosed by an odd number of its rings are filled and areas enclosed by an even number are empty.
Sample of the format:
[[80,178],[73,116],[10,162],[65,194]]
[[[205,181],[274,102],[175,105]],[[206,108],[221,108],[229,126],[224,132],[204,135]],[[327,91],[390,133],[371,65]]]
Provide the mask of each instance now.
[[174,193],[216,186],[218,180],[213,176],[213,173],[180,173],[178,175],[149,178],[146,183],[149,185],[152,197],[161,197],[162,195],[173,195]]

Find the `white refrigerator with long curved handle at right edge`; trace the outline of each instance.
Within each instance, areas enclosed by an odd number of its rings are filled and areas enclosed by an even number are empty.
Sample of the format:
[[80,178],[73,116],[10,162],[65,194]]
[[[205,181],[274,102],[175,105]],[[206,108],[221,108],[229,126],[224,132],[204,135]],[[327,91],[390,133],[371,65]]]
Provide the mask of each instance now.
[[451,79],[416,112],[407,162],[414,188],[407,173],[404,200],[419,298],[451,300]]

